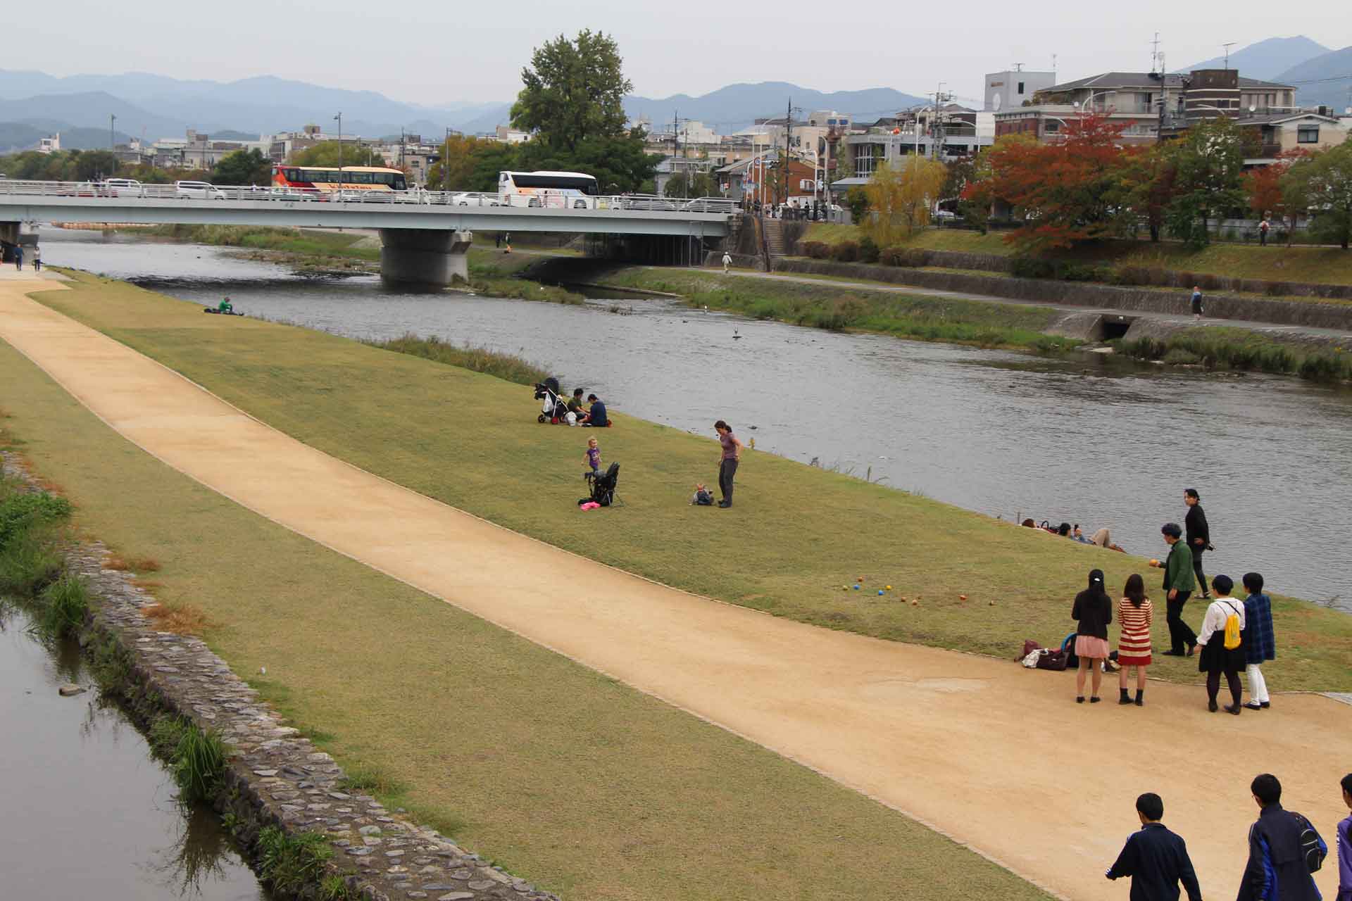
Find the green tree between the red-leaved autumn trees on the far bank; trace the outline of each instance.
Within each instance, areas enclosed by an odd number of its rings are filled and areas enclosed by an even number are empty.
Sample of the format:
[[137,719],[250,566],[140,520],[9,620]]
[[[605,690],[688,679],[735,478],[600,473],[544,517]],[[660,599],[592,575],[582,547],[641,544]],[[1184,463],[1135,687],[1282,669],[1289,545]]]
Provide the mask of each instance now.
[[1175,238],[1202,247],[1211,240],[1213,217],[1245,207],[1244,140],[1233,120],[1218,116],[1188,128],[1169,150],[1174,182],[1164,220]]

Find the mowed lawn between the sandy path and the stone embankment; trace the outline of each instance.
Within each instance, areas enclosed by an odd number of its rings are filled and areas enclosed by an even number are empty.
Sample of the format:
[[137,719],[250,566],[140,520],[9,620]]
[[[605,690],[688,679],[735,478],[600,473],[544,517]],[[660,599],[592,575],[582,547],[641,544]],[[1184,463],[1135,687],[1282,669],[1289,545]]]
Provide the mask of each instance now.
[[203,611],[211,647],[349,773],[402,783],[384,796],[392,806],[565,898],[1048,897],[806,767],[233,504],[3,340],[0,407],[0,444],[16,438],[76,503],[81,534],[158,561],[154,593]]

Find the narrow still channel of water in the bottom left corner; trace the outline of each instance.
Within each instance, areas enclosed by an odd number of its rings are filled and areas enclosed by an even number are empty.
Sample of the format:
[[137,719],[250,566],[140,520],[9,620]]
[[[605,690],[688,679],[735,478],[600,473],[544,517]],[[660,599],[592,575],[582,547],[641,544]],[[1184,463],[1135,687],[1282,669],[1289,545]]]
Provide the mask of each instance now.
[[74,642],[46,646],[0,600],[0,897],[266,901],[208,808],[183,810],[145,738],[91,685]]

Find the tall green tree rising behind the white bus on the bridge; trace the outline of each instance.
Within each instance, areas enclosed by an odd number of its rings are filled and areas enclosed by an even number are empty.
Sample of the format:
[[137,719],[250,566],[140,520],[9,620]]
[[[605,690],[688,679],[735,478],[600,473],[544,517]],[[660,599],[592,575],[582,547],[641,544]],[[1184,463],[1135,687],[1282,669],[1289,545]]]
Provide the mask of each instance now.
[[625,95],[634,89],[623,73],[615,41],[584,28],[537,47],[521,72],[522,89],[511,108],[516,128],[533,142],[573,151],[583,142],[625,134]]

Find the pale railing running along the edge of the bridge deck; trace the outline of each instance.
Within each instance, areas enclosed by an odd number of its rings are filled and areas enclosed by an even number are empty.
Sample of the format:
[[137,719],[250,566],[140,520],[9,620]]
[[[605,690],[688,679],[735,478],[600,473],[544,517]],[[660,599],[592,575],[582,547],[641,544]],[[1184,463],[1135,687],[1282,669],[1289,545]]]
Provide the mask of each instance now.
[[[480,193],[468,190],[377,190],[369,188],[279,188],[276,185],[151,185],[132,181],[28,181],[0,178],[0,204],[15,197],[80,197],[88,200],[228,200],[260,204],[342,203],[418,204],[429,207],[515,207],[523,209],[588,209],[722,213],[735,212],[737,204],[725,197],[658,197],[656,195],[611,195],[589,197],[576,193],[535,195]],[[110,204],[114,205],[114,204]]]

